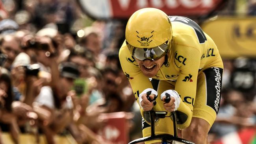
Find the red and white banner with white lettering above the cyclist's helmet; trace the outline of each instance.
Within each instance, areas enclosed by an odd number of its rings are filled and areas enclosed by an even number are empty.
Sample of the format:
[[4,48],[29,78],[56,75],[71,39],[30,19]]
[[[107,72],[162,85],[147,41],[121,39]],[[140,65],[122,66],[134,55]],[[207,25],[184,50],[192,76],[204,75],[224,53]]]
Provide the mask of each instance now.
[[129,18],[144,7],[161,9],[167,15],[206,15],[223,0],[79,0],[82,9],[94,18]]

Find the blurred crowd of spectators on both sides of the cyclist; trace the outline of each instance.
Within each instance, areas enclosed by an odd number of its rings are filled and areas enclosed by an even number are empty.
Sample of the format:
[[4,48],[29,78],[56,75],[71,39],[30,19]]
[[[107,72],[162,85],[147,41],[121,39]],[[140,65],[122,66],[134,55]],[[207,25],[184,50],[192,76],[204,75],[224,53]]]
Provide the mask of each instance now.
[[[141,137],[140,112],[118,59],[125,22],[93,21],[75,0],[2,0],[0,7],[0,144],[5,132],[15,144],[20,133],[43,134],[48,144],[67,134],[78,144],[112,144],[97,131],[106,124],[101,114],[119,111],[130,139]],[[237,61],[224,60],[212,140],[256,125],[256,70],[248,61],[252,85],[238,89]]]

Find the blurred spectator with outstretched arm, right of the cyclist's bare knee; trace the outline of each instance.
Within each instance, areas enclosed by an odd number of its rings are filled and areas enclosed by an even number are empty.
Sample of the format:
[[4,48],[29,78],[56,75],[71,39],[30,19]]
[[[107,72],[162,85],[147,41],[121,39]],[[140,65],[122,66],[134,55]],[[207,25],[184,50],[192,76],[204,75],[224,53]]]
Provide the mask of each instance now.
[[[243,94],[236,90],[229,90],[222,94],[221,107],[211,132],[217,137],[238,131],[247,126],[256,124],[252,111]],[[248,110],[247,110],[248,109]]]

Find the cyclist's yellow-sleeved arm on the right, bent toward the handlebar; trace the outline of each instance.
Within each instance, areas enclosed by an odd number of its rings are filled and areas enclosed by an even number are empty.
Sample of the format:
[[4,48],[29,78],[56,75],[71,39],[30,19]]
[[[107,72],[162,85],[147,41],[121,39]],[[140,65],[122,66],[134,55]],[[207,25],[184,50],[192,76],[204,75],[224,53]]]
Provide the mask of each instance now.
[[[189,126],[193,114],[193,104],[195,102],[197,90],[197,75],[200,65],[200,52],[196,48],[182,46],[179,51],[180,55],[186,58],[186,62],[180,65],[180,74],[176,81],[175,90],[181,97],[180,107],[178,111],[186,113],[188,119],[184,124],[178,125],[180,129]],[[191,103],[184,100],[185,97],[191,99]]]

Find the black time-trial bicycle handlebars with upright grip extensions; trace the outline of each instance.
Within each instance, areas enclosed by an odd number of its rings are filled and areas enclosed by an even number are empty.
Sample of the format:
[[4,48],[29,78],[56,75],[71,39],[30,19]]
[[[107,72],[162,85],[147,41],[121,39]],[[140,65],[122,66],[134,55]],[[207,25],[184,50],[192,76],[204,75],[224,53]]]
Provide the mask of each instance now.
[[[149,98],[149,95],[151,94],[151,92],[147,92],[147,98],[150,102],[153,101],[154,105],[155,105],[155,99],[151,100]],[[171,98],[169,94],[165,94],[166,98],[165,98],[165,102],[169,103]],[[193,142],[190,142],[188,140],[185,140],[183,138],[179,138],[178,137],[178,127],[177,127],[177,116],[176,116],[176,112],[171,112],[171,117],[173,119],[173,130],[174,130],[174,135],[170,135],[170,134],[160,134],[160,135],[156,135],[155,134],[155,118],[165,118],[165,117],[170,117],[170,116],[166,116],[167,112],[166,111],[145,111],[145,113],[149,114],[150,117],[150,124],[151,124],[151,135],[149,137],[143,137],[143,138],[138,138],[135,139],[131,142],[129,142],[128,144],[137,144],[139,142],[146,142],[146,141],[150,141],[150,140],[161,140],[161,144],[195,144]]]

